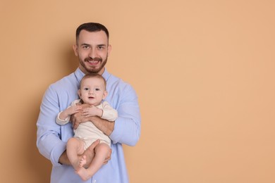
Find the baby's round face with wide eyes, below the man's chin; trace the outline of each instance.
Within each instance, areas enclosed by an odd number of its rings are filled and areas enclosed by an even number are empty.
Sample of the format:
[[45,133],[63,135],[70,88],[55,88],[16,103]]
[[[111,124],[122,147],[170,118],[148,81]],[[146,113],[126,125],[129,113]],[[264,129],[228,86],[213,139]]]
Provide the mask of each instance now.
[[105,85],[97,77],[86,78],[80,87],[80,99],[91,106],[98,106],[106,97]]

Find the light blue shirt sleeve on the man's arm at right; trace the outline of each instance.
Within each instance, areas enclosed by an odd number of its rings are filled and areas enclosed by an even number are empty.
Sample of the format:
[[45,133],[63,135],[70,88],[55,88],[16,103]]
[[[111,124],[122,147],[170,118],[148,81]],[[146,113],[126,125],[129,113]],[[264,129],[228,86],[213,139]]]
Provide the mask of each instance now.
[[120,89],[118,101],[118,118],[110,139],[114,144],[121,143],[135,146],[140,139],[140,107],[138,96],[133,87],[126,84]]

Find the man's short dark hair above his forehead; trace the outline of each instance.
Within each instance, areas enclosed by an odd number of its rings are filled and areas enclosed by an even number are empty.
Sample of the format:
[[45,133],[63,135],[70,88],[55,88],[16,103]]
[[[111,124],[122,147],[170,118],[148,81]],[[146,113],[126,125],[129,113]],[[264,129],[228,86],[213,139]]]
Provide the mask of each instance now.
[[87,30],[88,32],[99,32],[99,31],[103,30],[106,33],[107,38],[109,40],[109,31],[107,30],[107,28],[104,25],[102,25],[100,23],[83,23],[76,30],[76,33],[75,33],[76,42],[78,42],[78,37],[79,37],[81,30]]

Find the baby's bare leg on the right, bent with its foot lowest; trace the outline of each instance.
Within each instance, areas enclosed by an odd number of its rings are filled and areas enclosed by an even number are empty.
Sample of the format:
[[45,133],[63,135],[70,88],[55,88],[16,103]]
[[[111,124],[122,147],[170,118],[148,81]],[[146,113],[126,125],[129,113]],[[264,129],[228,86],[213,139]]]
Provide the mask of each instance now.
[[[109,154],[109,149],[110,147],[107,144],[98,144],[94,151],[95,151],[95,156],[94,159],[92,160],[92,163],[89,168],[80,168],[76,172],[78,175],[83,179],[87,180],[90,179],[99,168],[102,167],[104,160],[106,156]],[[85,158],[82,158],[82,160],[85,160]],[[84,163],[85,164],[85,163]]]

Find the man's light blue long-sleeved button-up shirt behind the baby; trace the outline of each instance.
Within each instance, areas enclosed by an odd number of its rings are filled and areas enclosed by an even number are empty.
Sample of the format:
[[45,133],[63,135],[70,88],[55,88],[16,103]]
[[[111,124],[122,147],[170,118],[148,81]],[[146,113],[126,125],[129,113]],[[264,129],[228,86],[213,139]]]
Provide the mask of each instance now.
[[[72,166],[61,165],[59,157],[66,150],[66,142],[73,137],[71,122],[57,125],[56,116],[72,101],[78,99],[80,80],[85,74],[78,68],[75,72],[51,84],[45,92],[37,120],[37,148],[53,165],[51,183],[83,182]],[[107,82],[106,100],[118,111],[111,139],[111,160],[86,182],[124,183],[129,182],[122,144],[135,146],[140,139],[140,108],[138,96],[130,84],[109,74],[102,75]]]

